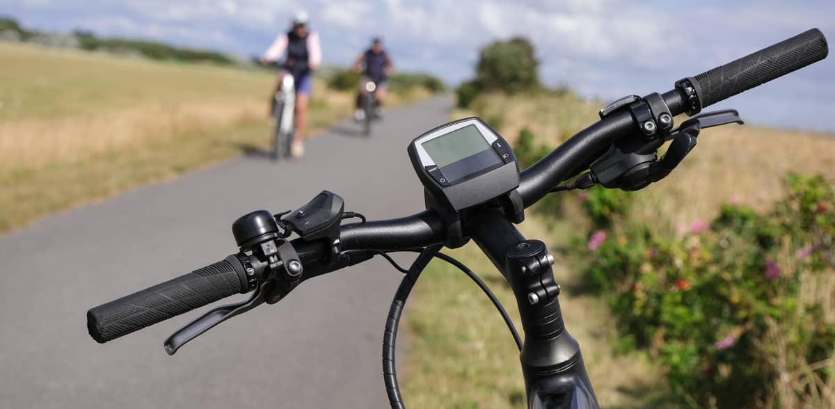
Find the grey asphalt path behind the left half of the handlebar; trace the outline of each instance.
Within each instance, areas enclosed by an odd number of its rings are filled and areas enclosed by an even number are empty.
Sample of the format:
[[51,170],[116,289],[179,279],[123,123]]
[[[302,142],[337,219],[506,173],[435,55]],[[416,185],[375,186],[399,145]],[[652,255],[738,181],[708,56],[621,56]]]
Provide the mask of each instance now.
[[104,345],[85,314],[234,253],[230,224],[251,210],[289,210],[322,189],[369,219],[422,210],[406,147],[446,121],[450,102],[391,109],[369,139],[337,124],[300,160],[251,154],[0,237],[0,407],[388,407],[382,330],[401,275],[379,258],[307,281],[175,356],[164,339],[210,307]]

